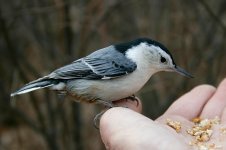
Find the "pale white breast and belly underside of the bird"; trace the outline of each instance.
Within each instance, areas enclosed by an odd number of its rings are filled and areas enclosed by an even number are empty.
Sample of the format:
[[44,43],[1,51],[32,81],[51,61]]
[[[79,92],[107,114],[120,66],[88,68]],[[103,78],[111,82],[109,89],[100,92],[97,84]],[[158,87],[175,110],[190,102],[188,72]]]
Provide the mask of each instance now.
[[135,94],[151,77],[147,72],[134,71],[124,77],[111,80],[74,80],[67,85],[71,92],[78,95],[114,101]]

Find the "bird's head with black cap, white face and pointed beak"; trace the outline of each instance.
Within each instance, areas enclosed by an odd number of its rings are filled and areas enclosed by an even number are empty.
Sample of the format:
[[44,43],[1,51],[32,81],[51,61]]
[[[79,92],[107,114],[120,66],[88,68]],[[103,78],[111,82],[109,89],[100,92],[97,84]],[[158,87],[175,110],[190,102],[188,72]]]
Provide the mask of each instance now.
[[118,44],[116,48],[134,61],[138,69],[151,68],[153,72],[174,71],[189,78],[193,77],[190,73],[177,66],[169,50],[157,41],[139,38]]

